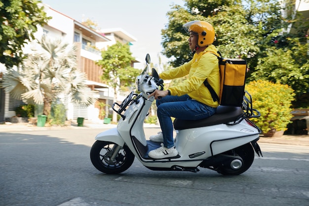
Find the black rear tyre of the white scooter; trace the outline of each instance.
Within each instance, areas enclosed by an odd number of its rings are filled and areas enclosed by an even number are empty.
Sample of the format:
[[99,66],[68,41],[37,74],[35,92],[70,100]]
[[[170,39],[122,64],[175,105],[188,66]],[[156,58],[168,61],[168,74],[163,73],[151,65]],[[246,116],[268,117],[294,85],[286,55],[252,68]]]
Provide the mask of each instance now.
[[242,158],[242,165],[237,169],[232,169],[228,166],[219,166],[218,173],[223,175],[238,175],[249,169],[254,160],[254,150],[250,143],[237,147],[231,151],[228,151],[227,154],[235,154]]

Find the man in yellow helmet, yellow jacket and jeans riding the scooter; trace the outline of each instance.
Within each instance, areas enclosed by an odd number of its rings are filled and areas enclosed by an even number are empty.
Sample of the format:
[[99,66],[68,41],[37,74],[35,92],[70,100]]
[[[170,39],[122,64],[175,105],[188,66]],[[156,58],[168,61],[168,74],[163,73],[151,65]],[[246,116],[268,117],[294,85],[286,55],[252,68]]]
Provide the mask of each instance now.
[[[219,95],[220,73],[216,47],[212,44],[215,31],[211,24],[205,21],[191,21],[183,25],[190,35],[189,47],[193,51],[193,59],[180,67],[160,74],[163,80],[171,80],[188,75],[188,79],[169,90],[155,90],[157,117],[162,129],[150,140],[163,142],[160,148],[149,152],[153,159],[173,158],[178,155],[174,146],[173,123],[171,117],[183,120],[200,120],[215,114],[219,103],[214,102],[205,79]],[[158,97],[162,97],[159,99]]]

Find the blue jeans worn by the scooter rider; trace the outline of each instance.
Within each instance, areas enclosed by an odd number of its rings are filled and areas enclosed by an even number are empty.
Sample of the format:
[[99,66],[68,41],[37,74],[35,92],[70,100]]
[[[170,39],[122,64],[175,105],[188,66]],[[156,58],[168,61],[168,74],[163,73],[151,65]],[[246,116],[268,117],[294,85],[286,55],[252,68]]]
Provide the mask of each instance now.
[[156,106],[157,117],[163,133],[163,144],[166,148],[174,146],[171,117],[182,120],[200,120],[212,116],[217,110],[191,99],[188,94],[165,96],[160,100],[156,100]]

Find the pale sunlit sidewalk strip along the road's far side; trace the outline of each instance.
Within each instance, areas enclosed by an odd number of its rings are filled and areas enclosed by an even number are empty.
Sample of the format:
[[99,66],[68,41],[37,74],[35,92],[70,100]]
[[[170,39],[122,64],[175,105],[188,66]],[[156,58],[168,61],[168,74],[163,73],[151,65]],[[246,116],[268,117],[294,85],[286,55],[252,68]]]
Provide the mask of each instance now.
[[[33,124],[19,123],[19,124],[0,124],[0,132],[7,131],[35,131],[35,130],[59,130],[59,129],[91,129],[91,128],[114,128],[116,124],[102,124],[85,121],[83,126],[77,126],[77,123],[72,123],[67,126],[44,126],[39,127]],[[160,128],[156,124],[144,124],[144,128]],[[272,143],[272,144],[290,144],[309,146],[309,135],[283,135],[281,137],[264,137],[260,136],[259,143]]]

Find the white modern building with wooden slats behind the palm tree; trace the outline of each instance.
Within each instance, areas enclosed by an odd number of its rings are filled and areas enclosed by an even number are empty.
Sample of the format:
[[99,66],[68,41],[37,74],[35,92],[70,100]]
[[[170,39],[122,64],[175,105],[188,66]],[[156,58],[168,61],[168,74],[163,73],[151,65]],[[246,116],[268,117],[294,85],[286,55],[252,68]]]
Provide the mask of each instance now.
[[[67,107],[67,119],[76,120],[77,117],[82,117],[99,121],[100,110],[102,110],[99,103],[111,105],[114,91],[100,79],[103,71],[95,64],[95,61],[101,58],[101,51],[98,49],[107,48],[108,45],[112,45],[116,41],[127,43],[134,42],[136,39],[120,28],[94,31],[81,22],[56,11],[49,5],[43,5],[47,16],[51,16],[52,19],[48,21],[47,25],[38,28],[35,38],[39,39],[42,35],[46,35],[49,38],[62,38],[63,41],[68,43],[77,43],[77,68],[86,73],[88,79],[86,83],[89,89],[98,91],[97,103],[89,107],[81,107],[78,104],[68,102],[66,97],[62,97],[61,99]],[[25,50],[27,50],[27,47]],[[134,62],[132,62],[132,66],[133,64]],[[1,89],[0,122],[15,116],[14,110],[21,104],[24,104],[21,100],[13,99],[9,93],[5,93]],[[105,109],[108,109],[108,107],[106,106]]]

